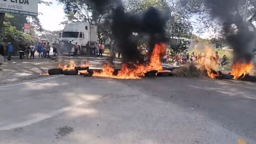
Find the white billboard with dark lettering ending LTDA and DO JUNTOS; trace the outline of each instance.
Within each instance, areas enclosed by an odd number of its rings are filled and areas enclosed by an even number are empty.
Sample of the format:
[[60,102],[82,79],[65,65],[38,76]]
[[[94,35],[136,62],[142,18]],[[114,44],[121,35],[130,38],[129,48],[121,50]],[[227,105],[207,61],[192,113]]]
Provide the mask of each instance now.
[[37,16],[38,0],[0,0],[0,12]]

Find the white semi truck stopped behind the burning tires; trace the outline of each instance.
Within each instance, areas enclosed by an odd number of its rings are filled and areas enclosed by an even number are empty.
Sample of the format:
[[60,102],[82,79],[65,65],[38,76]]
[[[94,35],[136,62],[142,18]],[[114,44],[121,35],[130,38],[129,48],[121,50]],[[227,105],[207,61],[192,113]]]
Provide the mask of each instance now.
[[[67,44],[71,41],[72,44],[78,44],[79,49],[77,54],[86,52],[85,45],[87,42],[93,43],[99,42],[98,39],[98,27],[96,25],[90,25],[87,22],[71,22],[68,23],[64,29],[60,41],[64,41],[65,49],[63,52],[68,52]],[[71,49],[71,53],[75,52],[75,48]]]

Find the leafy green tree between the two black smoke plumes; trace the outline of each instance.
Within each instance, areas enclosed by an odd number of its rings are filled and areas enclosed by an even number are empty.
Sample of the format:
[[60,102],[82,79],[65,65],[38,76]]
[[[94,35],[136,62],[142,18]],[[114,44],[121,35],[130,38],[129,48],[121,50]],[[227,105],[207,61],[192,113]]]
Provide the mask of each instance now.
[[173,52],[181,52],[188,49],[189,41],[185,39],[190,38],[189,33],[192,31],[192,25],[189,20],[188,12],[177,7],[173,1],[166,0],[130,0],[126,2],[125,8],[128,12],[140,13],[148,9],[149,6],[156,7],[168,14],[169,20],[167,22],[167,33],[170,38],[177,39],[177,43],[169,45]]

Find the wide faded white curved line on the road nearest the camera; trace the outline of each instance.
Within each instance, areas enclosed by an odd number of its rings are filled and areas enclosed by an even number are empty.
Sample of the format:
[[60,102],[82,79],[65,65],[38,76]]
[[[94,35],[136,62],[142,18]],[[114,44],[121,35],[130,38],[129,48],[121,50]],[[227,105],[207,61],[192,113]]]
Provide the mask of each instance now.
[[47,118],[51,118],[53,116],[57,116],[61,113],[64,113],[64,112],[67,112],[75,107],[78,107],[80,105],[84,104],[84,102],[81,102],[79,104],[76,104],[74,106],[69,106],[69,107],[64,107],[64,108],[60,108],[56,111],[53,111],[53,112],[50,112],[50,113],[47,113],[47,114],[42,114],[41,116],[39,117],[36,117],[34,119],[30,119],[30,120],[27,120],[27,121],[24,121],[24,122],[20,122],[20,123],[14,123],[14,124],[9,124],[9,125],[6,125],[6,126],[2,126],[0,127],[0,131],[6,131],[6,130],[11,130],[11,129],[16,129],[16,128],[19,128],[19,127],[24,127],[24,126],[28,126],[30,124],[35,124],[35,123],[38,123],[42,120],[45,120]]

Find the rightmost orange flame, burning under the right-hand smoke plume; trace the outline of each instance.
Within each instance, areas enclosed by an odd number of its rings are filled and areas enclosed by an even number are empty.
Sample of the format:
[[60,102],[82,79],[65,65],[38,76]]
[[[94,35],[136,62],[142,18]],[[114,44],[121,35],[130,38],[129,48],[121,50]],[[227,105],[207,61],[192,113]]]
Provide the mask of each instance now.
[[[232,65],[232,73],[234,79],[243,78],[246,74],[248,74],[253,69],[253,63],[242,63],[235,62]],[[241,77],[243,76],[243,77]]]

